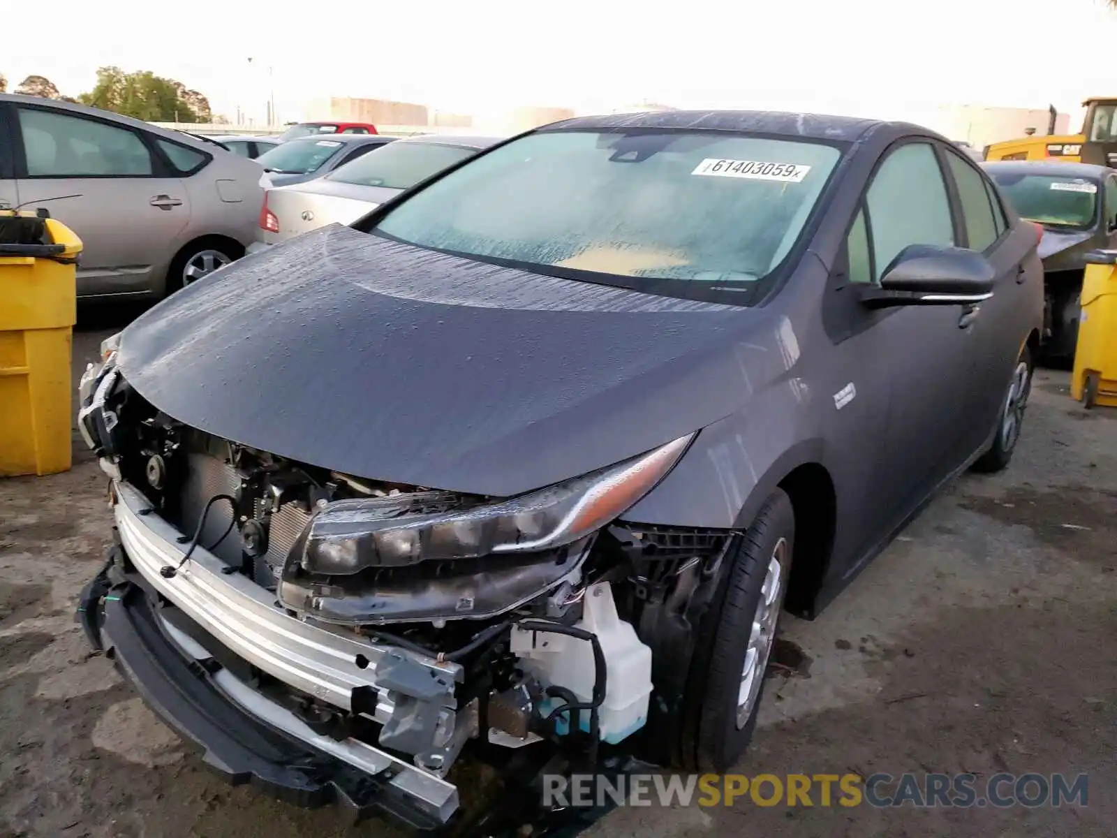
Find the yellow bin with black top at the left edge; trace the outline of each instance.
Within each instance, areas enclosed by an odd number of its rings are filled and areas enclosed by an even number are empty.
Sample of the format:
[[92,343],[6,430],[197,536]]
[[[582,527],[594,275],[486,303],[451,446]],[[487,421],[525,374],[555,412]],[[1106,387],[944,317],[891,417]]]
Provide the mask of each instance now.
[[0,211],[0,476],[70,467],[70,341],[82,240]]

